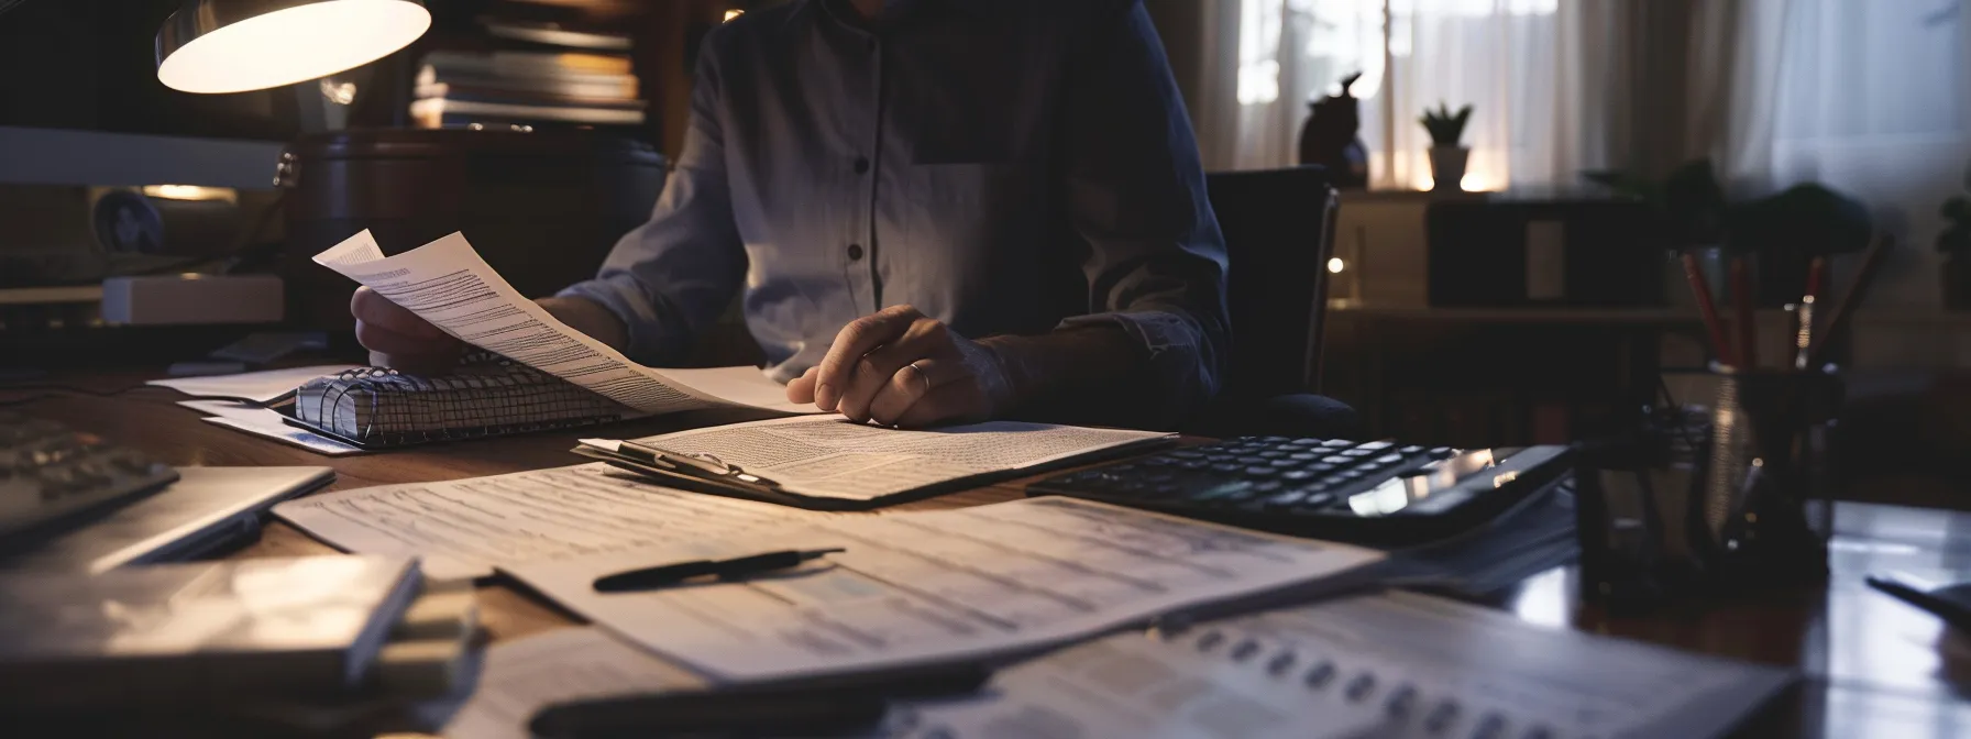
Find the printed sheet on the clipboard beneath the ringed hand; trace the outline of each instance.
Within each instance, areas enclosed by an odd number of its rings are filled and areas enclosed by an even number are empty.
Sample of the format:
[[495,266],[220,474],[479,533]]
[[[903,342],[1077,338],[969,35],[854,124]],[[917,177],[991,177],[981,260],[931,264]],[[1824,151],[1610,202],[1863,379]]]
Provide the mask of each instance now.
[[905,432],[836,416],[775,418],[637,441],[668,451],[710,453],[792,493],[871,501],[1171,436],[1021,422]]

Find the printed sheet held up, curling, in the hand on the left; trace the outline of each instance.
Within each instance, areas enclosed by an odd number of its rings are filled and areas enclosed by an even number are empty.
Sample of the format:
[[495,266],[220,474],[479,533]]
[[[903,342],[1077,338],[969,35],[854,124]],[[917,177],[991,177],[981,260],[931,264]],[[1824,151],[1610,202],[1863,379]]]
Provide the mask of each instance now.
[[463,235],[382,256],[369,231],[315,254],[315,264],[369,286],[442,331],[615,402],[668,414],[721,404],[570,329],[507,284]]

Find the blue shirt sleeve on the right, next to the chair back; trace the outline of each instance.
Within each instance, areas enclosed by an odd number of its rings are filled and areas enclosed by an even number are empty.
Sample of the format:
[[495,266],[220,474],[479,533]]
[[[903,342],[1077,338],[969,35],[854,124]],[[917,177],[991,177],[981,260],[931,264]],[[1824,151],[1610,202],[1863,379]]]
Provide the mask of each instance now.
[[1068,77],[1066,213],[1088,242],[1090,315],[1141,343],[1155,416],[1177,420],[1218,392],[1230,351],[1226,248],[1204,193],[1196,138],[1141,2],[1094,24]]

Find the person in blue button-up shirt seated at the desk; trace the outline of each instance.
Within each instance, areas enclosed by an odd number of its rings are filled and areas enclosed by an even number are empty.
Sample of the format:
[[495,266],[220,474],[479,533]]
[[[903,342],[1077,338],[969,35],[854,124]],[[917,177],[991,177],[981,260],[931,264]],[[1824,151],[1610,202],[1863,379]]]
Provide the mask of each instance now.
[[[568,325],[664,367],[743,288],[788,400],[907,428],[1171,428],[1216,394],[1226,250],[1141,0],[796,0],[696,77],[650,221],[540,300]],[[369,288],[351,311],[376,365],[459,355]]]

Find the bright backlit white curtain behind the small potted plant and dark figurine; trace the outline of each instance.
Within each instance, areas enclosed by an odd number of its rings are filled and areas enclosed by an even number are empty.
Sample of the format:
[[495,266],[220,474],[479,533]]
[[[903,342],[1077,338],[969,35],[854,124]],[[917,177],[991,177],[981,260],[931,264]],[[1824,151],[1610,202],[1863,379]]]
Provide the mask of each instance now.
[[[1214,169],[1297,160],[1307,102],[1360,71],[1372,187],[1431,187],[1417,124],[1472,104],[1466,189],[1575,183],[1606,166],[1606,0],[1218,0],[1198,130]],[[1390,24],[1384,34],[1384,14]],[[1216,61],[1216,63],[1214,63]],[[1216,85],[1214,85],[1216,83]]]

